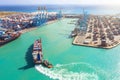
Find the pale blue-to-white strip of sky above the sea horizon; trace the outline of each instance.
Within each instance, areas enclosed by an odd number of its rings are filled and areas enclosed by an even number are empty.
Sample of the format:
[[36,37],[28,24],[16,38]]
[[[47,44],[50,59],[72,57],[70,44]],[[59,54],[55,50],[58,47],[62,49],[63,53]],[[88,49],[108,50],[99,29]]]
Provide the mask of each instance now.
[[0,5],[77,4],[120,5],[119,0],[0,0]]

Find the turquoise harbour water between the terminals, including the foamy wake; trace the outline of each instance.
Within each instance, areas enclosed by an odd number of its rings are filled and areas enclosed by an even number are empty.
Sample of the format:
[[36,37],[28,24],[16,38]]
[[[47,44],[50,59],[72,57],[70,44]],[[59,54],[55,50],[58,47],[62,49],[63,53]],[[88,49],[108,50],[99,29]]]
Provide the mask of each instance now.
[[[62,19],[24,33],[0,48],[0,80],[120,80],[120,46],[100,49],[72,45],[75,19]],[[32,44],[42,38],[52,69],[34,65]]]

